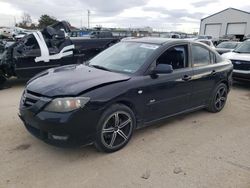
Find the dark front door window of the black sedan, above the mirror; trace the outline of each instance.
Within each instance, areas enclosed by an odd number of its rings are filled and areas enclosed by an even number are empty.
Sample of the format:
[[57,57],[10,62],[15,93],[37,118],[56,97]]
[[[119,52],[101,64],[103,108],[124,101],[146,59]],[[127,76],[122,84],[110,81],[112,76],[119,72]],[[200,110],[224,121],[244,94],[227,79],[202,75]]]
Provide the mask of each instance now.
[[169,48],[156,60],[156,64],[172,65],[174,70],[188,67],[188,46],[178,45]]

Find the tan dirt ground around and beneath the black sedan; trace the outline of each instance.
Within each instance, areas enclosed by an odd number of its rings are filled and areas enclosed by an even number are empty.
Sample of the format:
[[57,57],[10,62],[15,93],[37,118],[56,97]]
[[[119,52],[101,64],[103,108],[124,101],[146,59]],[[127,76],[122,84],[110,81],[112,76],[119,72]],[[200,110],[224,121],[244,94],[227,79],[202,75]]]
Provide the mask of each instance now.
[[250,188],[250,85],[224,110],[205,110],[137,130],[112,154],[62,149],[31,136],[17,116],[23,82],[0,90],[0,188]]

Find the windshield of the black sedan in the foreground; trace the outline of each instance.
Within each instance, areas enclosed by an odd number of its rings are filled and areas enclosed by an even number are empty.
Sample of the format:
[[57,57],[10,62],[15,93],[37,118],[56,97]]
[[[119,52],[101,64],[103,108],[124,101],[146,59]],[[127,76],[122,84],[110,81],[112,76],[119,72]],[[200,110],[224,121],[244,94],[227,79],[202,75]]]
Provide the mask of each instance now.
[[135,73],[158,45],[120,42],[89,61],[89,66],[114,72]]

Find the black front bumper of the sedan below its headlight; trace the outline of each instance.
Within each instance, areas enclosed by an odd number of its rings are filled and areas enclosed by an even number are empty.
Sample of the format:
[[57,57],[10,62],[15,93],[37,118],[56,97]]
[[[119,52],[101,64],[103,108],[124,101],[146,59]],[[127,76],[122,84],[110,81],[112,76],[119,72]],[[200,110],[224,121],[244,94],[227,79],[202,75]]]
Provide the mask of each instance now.
[[87,107],[68,113],[34,113],[32,107],[19,109],[19,117],[32,135],[48,144],[61,147],[92,143],[100,115],[100,111]]

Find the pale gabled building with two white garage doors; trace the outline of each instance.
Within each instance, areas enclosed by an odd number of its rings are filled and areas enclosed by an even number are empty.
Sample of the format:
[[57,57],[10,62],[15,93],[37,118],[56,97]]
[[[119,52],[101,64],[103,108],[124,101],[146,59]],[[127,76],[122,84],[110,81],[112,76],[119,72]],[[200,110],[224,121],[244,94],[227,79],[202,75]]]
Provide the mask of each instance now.
[[228,8],[201,19],[200,35],[219,38],[235,35],[242,39],[250,34],[250,13],[235,8]]

